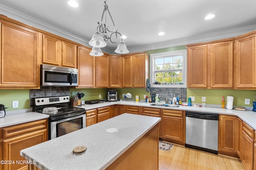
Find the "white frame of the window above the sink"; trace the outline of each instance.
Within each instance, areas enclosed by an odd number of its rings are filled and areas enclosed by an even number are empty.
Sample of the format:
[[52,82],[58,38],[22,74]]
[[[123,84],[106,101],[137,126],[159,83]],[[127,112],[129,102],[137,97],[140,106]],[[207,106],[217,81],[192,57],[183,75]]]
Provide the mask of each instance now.
[[[160,57],[168,57],[170,55],[183,55],[183,63],[182,63],[182,80],[183,84],[153,84],[154,81],[154,72],[155,72],[155,58]],[[177,50],[177,51],[169,51],[164,53],[155,53],[150,54],[150,85],[151,87],[158,87],[158,88],[186,88],[187,87],[187,50]]]

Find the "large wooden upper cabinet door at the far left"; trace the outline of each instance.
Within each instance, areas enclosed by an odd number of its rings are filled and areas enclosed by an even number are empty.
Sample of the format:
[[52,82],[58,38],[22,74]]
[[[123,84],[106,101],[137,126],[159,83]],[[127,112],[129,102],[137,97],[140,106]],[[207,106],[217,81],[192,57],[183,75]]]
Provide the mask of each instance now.
[[40,88],[39,32],[5,20],[0,22],[0,88]]

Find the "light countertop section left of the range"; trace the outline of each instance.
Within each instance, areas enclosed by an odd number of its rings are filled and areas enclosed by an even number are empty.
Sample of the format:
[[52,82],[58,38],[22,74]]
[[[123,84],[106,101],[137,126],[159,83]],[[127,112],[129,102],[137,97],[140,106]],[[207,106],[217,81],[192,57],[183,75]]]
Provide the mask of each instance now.
[[11,125],[17,125],[20,123],[26,123],[30,121],[36,121],[40,119],[48,118],[49,115],[37,113],[37,112],[26,112],[12,115],[6,115],[0,118],[0,127],[6,127]]

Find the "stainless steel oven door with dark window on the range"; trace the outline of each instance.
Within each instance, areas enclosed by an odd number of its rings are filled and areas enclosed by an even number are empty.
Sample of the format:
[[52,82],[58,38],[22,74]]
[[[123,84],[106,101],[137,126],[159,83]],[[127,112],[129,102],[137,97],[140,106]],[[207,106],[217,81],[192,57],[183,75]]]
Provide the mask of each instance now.
[[86,114],[53,121],[50,123],[49,139],[66,135],[84,127],[86,127]]

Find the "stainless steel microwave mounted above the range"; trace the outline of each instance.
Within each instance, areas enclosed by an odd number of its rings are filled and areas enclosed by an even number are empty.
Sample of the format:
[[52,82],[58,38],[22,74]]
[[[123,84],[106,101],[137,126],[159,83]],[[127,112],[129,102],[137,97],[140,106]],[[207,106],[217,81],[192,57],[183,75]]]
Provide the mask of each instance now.
[[41,64],[41,86],[77,86],[78,69]]

